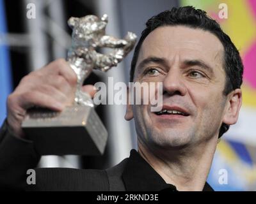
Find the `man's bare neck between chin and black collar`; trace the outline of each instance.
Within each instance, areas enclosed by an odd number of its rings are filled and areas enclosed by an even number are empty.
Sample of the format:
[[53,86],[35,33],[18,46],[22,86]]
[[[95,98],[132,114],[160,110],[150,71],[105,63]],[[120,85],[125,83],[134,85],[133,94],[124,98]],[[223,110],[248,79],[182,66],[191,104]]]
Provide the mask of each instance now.
[[168,184],[179,191],[202,191],[216,150],[216,138],[192,148],[153,150],[138,141],[138,152]]

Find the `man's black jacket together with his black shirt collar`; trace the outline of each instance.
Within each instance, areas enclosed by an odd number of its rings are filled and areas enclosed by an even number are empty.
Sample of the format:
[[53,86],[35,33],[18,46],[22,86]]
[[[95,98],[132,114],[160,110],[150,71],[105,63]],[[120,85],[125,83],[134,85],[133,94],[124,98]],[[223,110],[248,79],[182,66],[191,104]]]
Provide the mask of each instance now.
[[[0,131],[0,189],[25,191],[176,191],[136,150],[107,170],[35,168],[40,156],[33,142],[16,138],[6,122]],[[36,184],[27,184],[28,169],[35,169]],[[212,191],[205,183],[204,191]]]

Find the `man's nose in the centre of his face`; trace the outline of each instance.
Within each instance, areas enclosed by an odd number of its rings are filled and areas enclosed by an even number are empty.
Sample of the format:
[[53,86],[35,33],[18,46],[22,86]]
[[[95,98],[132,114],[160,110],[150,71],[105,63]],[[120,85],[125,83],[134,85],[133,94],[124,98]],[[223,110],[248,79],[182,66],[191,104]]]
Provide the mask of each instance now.
[[163,94],[184,96],[186,92],[184,78],[182,78],[179,68],[171,68],[163,80]]

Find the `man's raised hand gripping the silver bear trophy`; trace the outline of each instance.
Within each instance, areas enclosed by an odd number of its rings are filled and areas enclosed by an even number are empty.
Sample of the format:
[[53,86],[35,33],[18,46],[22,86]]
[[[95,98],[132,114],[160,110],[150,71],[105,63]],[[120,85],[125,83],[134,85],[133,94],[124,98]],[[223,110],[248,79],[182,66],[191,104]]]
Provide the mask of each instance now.
[[[65,59],[58,59],[22,78],[8,97],[8,122],[13,133],[22,136],[21,122],[26,110],[39,106],[62,111],[74,102],[77,75]],[[86,89],[87,90],[87,89]],[[89,91],[93,94],[92,91]]]

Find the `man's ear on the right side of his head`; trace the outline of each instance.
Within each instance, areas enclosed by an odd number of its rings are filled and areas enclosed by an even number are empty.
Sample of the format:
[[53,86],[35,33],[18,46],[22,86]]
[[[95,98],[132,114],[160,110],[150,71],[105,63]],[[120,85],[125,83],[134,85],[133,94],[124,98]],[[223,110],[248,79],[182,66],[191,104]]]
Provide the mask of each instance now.
[[228,94],[228,101],[223,117],[223,122],[227,125],[236,124],[239,110],[242,105],[241,89],[236,89]]

